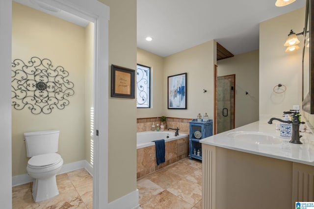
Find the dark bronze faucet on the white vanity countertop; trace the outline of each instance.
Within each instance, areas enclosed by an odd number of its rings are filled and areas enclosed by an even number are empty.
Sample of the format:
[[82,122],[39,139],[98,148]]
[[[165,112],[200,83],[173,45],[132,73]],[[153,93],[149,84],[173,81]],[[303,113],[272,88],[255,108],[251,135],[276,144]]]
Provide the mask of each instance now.
[[283,122],[283,123],[292,124],[291,140],[289,142],[294,143],[294,144],[302,144],[302,142],[300,141],[300,137],[302,137],[302,136],[299,135],[299,127],[300,127],[301,123],[304,124],[305,122],[300,121],[299,111],[290,110],[290,111],[284,112],[284,114],[291,114],[292,120],[286,121],[286,120],[282,120],[282,119],[279,119],[276,117],[272,117],[269,119],[268,123],[272,124],[273,120],[278,120],[278,121]]

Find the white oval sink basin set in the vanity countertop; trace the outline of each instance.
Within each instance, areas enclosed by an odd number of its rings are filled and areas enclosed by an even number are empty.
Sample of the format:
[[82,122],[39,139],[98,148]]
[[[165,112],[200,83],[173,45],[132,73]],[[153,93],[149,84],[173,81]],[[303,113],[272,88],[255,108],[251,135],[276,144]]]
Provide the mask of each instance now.
[[233,138],[235,141],[254,144],[280,144],[282,139],[274,137],[261,132],[232,132],[228,137]]

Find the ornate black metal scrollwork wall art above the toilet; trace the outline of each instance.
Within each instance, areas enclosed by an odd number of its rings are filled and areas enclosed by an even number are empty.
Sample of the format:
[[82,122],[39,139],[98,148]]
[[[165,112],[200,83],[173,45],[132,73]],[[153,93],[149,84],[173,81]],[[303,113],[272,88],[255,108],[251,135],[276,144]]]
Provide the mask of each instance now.
[[54,108],[64,109],[68,97],[74,95],[74,84],[68,80],[69,72],[53,67],[49,59],[32,57],[25,63],[15,59],[12,63],[12,106],[16,110],[28,108],[31,113],[50,114]]

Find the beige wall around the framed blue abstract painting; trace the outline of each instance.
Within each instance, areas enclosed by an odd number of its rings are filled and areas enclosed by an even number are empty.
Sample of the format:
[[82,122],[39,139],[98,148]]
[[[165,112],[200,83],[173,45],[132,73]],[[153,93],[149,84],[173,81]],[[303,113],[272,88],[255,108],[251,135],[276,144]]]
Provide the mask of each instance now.
[[[196,118],[198,113],[207,112],[213,118],[214,65],[216,64],[217,45],[215,41],[194,46],[164,58],[163,100],[167,105],[168,76],[187,73],[187,109],[168,110],[169,117]],[[203,89],[207,93],[203,93]]]

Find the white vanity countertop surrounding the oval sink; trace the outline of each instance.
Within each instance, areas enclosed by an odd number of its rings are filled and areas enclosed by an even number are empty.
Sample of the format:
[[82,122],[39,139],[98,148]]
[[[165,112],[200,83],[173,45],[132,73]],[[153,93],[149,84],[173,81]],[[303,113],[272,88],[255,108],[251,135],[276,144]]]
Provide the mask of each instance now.
[[[277,120],[273,124],[268,124],[267,121],[270,117],[263,118],[260,121],[241,126],[230,131],[226,131],[205,139],[200,142],[217,147],[237,150],[241,152],[262,155],[270,158],[277,158],[281,160],[314,165],[314,134],[300,132],[300,138],[303,144],[289,143],[290,139],[280,138],[280,131],[276,130]],[[278,117],[277,117],[278,118]],[[280,118],[280,117],[279,117]],[[277,143],[265,144],[254,143],[252,141],[246,142],[245,140],[237,140],[230,137],[230,133],[244,132],[244,133],[257,133],[270,135],[276,137]],[[229,134],[229,136],[228,136]]]

